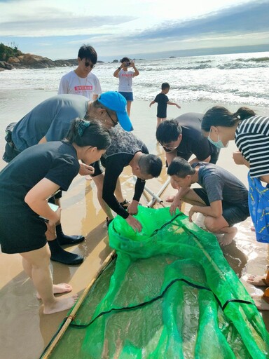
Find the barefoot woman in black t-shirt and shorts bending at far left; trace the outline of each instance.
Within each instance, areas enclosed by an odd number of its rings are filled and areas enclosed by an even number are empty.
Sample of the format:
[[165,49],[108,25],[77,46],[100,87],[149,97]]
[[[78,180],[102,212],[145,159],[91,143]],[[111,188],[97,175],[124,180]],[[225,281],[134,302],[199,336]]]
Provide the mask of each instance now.
[[33,280],[45,314],[70,309],[78,298],[77,294],[65,298],[54,295],[72,288],[66,283],[53,285],[46,238],[55,236],[61,208],[51,209],[48,198],[59,189],[67,191],[78,174],[78,160],[95,162],[109,145],[106,128],[76,118],[65,140],[29,147],[0,172],[1,251],[22,256],[23,268]]

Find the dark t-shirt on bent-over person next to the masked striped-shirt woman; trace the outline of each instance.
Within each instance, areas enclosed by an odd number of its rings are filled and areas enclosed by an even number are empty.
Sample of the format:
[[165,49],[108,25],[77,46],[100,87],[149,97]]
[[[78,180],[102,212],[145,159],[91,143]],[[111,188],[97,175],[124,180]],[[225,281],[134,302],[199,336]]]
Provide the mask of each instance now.
[[[188,161],[194,154],[199,161],[216,154],[218,149],[202,135],[201,122],[203,114],[188,112],[174,118],[182,128],[182,140],[177,147],[177,156]],[[214,148],[215,147],[215,148]]]

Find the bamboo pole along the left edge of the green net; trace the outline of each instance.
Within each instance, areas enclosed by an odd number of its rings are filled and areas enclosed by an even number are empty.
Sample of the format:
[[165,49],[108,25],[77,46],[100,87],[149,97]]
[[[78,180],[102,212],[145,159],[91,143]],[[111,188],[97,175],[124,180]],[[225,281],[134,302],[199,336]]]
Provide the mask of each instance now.
[[78,299],[78,302],[76,302],[74,308],[71,310],[71,313],[69,313],[69,316],[67,317],[67,320],[65,320],[64,325],[62,325],[60,331],[57,333],[57,335],[55,336],[53,341],[51,341],[50,346],[48,346],[46,352],[41,355],[40,359],[48,359],[50,357],[50,355],[53,352],[53,350],[54,350],[55,346],[57,345],[58,341],[60,341],[60,339],[62,338],[64,332],[67,330],[67,327],[69,327],[69,324],[74,319],[74,316],[76,315],[76,312],[78,311],[81,304],[83,303],[83,300],[87,296],[88,292],[90,292],[90,288],[92,287],[92,285],[94,285],[95,281],[102,274],[104,269],[106,269],[106,266],[108,266],[109,263],[111,263],[112,260],[115,257],[116,257],[116,251],[112,250],[109,253],[109,255],[106,257],[106,259],[104,259],[104,262],[102,263],[102,266],[100,266],[97,273],[95,273],[95,276],[90,281],[90,284],[88,285],[88,287],[85,288],[83,294]]

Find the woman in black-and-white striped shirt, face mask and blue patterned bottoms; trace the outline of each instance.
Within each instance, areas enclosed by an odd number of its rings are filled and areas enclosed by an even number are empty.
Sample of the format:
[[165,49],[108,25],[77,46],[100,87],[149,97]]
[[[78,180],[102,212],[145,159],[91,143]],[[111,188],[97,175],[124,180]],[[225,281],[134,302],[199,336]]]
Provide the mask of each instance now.
[[[225,107],[215,106],[205,113],[201,127],[216,147],[227,147],[230,140],[235,140],[239,151],[233,159],[249,168],[249,212],[256,239],[269,243],[269,117],[258,116],[247,107],[240,107],[233,114]],[[250,276],[247,282],[269,286],[269,271],[265,276]],[[258,309],[269,310],[269,287],[254,300]]]

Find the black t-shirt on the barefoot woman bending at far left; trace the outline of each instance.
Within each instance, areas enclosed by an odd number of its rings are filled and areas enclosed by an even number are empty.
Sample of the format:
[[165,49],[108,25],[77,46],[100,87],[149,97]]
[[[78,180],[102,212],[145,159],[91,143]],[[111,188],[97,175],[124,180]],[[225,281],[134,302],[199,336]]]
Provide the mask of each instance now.
[[25,149],[0,172],[0,214],[33,212],[25,203],[32,187],[47,178],[67,191],[78,170],[76,150],[66,142],[47,142]]

